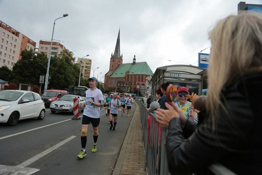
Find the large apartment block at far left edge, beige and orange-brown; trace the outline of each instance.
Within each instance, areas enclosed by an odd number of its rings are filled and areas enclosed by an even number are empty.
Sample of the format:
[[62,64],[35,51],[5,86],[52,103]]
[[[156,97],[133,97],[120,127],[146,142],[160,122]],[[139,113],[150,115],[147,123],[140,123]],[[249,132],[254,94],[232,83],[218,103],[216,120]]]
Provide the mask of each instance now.
[[18,32],[11,26],[0,21],[0,67],[6,65],[12,69],[22,57],[20,56],[22,50],[35,50],[36,43]]

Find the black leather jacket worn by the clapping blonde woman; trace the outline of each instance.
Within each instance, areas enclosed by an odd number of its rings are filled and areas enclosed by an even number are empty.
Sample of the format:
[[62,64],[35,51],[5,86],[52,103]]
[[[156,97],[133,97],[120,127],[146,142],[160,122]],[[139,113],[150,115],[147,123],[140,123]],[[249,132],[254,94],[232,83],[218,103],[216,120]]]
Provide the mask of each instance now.
[[238,175],[262,174],[262,74],[241,78],[221,94],[227,112],[220,107],[215,122],[211,116],[204,118],[204,111],[197,128],[190,120],[183,130],[179,118],[170,121],[166,138],[170,173],[206,174],[207,167],[218,162]]

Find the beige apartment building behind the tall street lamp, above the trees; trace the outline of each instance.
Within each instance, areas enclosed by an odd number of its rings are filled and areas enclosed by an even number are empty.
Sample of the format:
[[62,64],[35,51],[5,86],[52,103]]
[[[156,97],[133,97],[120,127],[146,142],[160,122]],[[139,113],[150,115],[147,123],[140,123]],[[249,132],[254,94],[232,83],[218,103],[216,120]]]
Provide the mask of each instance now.
[[[51,41],[40,40],[38,46],[38,53],[45,53],[48,57],[50,51]],[[66,49],[64,45],[58,42],[52,43],[51,56],[59,55],[62,50]]]

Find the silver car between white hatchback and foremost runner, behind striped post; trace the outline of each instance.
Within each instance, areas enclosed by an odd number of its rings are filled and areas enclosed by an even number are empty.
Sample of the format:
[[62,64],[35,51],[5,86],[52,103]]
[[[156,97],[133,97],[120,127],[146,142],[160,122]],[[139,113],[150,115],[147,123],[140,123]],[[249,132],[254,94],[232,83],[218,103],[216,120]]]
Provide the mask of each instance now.
[[81,96],[75,95],[64,95],[56,101],[53,101],[50,104],[50,111],[55,112],[69,112],[74,114],[74,102],[73,99],[78,99],[79,111],[84,112],[84,108],[81,107],[82,104],[85,104],[84,99]]

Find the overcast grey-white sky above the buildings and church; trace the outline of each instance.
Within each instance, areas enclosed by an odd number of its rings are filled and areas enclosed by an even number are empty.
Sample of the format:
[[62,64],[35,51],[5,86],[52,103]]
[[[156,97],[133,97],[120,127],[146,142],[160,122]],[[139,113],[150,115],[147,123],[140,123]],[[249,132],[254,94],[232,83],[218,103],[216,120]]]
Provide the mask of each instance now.
[[[0,20],[28,36],[59,40],[74,57],[90,55],[91,76],[109,70],[120,27],[123,63],[157,67],[198,65],[198,52],[210,53],[208,31],[221,18],[237,14],[239,0],[0,0]],[[262,4],[248,0],[247,4]],[[169,61],[170,60],[170,61]],[[101,78],[101,81],[104,78]]]

